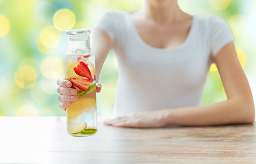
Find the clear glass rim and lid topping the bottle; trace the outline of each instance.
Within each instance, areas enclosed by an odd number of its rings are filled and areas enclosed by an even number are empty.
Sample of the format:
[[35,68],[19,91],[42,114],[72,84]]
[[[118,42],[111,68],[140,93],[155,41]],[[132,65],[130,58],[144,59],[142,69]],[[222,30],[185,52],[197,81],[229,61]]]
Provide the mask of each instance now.
[[71,41],[84,41],[88,40],[90,29],[68,29],[66,34]]

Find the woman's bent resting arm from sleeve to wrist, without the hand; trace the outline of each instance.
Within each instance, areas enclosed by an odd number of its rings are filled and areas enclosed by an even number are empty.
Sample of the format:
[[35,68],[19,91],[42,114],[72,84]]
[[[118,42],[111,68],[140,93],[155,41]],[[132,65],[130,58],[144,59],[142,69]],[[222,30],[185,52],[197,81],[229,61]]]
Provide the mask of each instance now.
[[214,125],[255,121],[253,96],[233,42],[221,49],[214,60],[227,100],[201,107],[167,110],[168,124]]

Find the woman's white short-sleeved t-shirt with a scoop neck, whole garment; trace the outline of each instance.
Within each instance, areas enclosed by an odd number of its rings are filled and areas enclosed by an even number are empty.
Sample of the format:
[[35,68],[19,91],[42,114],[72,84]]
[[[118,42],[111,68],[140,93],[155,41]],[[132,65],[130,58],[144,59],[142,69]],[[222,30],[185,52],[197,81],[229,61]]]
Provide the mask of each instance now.
[[129,12],[107,12],[94,28],[110,36],[118,61],[114,115],[201,105],[214,55],[234,40],[225,20],[210,14],[194,15],[185,42],[171,49],[146,44]]

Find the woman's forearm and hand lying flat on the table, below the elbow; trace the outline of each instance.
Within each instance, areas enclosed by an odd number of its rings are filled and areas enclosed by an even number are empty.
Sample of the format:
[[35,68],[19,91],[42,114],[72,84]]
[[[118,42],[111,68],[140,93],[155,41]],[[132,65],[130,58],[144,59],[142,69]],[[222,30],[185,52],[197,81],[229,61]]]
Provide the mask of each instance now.
[[167,124],[205,126],[253,123],[254,121],[253,100],[232,98],[200,107],[135,112],[112,118],[105,124],[118,127],[159,128]]

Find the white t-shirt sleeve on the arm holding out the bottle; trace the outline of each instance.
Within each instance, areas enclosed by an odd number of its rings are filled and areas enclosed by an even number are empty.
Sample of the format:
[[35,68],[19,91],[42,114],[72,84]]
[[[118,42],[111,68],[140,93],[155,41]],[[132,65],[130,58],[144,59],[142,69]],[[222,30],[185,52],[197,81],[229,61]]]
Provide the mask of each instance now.
[[103,16],[100,18],[99,22],[96,23],[94,29],[101,29],[108,36],[110,36],[112,42],[114,42],[116,38],[116,29],[114,26],[114,18],[112,12],[105,12]]

